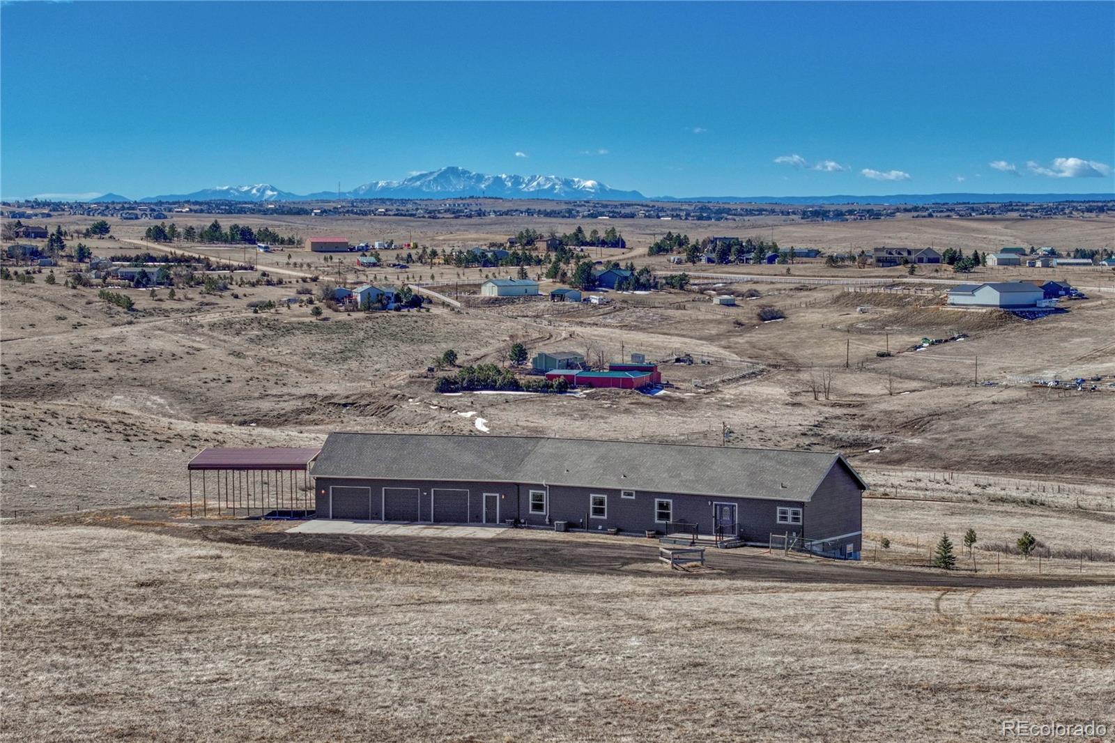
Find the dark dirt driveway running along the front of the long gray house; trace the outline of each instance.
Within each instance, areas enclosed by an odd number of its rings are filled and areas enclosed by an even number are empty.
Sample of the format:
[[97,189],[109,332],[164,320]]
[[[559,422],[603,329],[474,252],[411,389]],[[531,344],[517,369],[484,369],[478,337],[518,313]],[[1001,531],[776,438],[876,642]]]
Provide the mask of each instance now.
[[[619,539],[614,543],[576,539],[453,539],[269,532],[250,528],[204,529],[200,535],[210,541],[304,552],[580,575],[656,575],[632,568],[656,565],[658,559],[657,541],[633,539]],[[704,576],[731,580],[930,588],[1065,588],[1113,582],[892,570],[867,568],[861,563],[787,559],[715,549],[708,550],[706,558],[708,566],[715,570]],[[692,573],[691,577],[702,576]]]

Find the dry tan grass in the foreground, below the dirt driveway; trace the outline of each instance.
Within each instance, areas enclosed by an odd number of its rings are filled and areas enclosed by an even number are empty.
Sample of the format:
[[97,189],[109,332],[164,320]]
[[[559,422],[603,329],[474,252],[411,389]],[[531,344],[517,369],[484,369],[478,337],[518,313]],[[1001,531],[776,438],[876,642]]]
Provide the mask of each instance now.
[[[493,571],[3,527],[3,734],[989,740],[1104,720],[1109,588]],[[1108,721],[1111,722],[1111,721]]]

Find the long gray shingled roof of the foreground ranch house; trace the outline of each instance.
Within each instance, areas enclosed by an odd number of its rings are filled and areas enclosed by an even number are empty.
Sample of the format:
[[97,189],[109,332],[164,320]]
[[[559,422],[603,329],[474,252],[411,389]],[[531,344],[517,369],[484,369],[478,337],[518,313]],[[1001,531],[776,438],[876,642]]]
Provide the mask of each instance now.
[[840,454],[687,444],[332,433],[316,477],[457,480],[808,501]]

